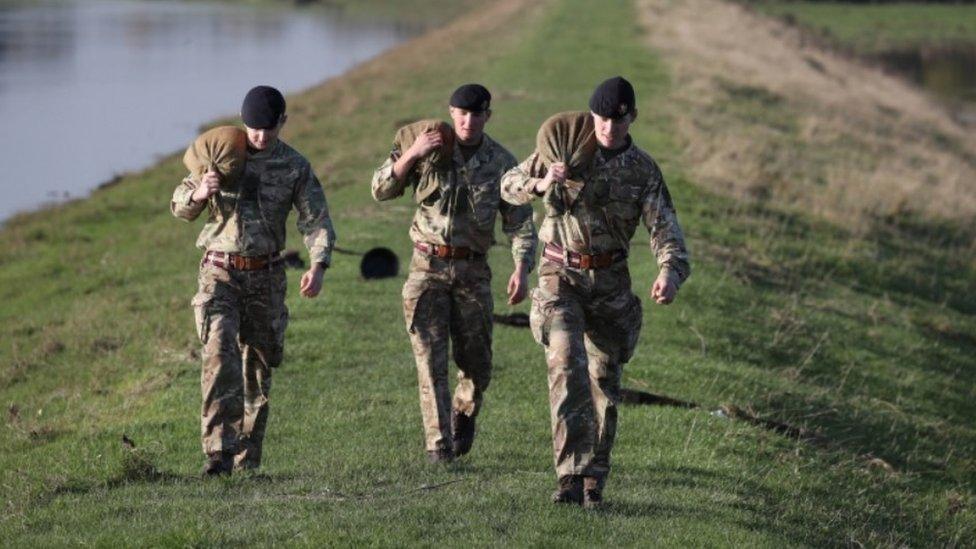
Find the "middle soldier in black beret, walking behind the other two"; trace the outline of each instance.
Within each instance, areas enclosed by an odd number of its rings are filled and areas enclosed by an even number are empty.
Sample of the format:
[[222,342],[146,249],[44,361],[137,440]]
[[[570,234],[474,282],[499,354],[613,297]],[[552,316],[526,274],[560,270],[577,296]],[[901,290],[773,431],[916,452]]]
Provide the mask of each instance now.
[[[515,158],[484,133],[491,117],[491,94],[467,84],[451,95],[453,132],[433,129],[390,157],[373,175],[376,200],[414,189],[417,211],[410,226],[414,243],[410,274],[403,286],[403,311],[417,362],[420,410],[428,459],[449,462],[474,443],[475,418],[491,381],[492,296],[486,254],[496,213],[511,240],[515,270],[508,279],[508,302],[525,298],[536,234],[530,206],[501,199],[499,180]],[[399,135],[399,134],[398,134]],[[456,137],[453,143],[447,140]],[[446,150],[441,150],[445,145]],[[437,166],[429,156],[446,160]],[[425,160],[427,159],[427,160]],[[458,373],[451,401],[448,338]]]

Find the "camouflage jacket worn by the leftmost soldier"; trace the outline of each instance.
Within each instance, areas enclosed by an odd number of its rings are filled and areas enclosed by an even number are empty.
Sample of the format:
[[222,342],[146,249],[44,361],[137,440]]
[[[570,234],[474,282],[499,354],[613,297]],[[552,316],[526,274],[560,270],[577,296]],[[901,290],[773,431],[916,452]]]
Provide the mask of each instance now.
[[285,222],[294,206],[309,258],[312,263],[329,265],[335,229],[325,193],[308,161],[284,142],[249,154],[244,175],[208,201],[190,198],[196,188],[197,182],[187,176],[173,192],[170,210],[186,221],[193,221],[204,209],[209,211],[197,238],[198,248],[244,256],[281,251]]

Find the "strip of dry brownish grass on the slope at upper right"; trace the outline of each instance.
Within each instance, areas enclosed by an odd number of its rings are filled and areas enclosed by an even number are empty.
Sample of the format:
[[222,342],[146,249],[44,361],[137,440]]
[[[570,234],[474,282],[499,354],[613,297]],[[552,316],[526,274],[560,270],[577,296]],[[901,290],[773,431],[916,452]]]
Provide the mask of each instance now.
[[720,0],[639,0],[696,177],[863,228],[976,218],[976,131],[922,91]]

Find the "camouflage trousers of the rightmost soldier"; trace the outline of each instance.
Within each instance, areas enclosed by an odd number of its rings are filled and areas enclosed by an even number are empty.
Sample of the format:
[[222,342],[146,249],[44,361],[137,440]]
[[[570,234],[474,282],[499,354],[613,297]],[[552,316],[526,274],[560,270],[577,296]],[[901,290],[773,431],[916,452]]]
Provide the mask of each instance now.
[[604,479],[617,432],[622,365],[643,320],[626,262],[578,270],[543,261],[529,320],[546,349],[556,474]]

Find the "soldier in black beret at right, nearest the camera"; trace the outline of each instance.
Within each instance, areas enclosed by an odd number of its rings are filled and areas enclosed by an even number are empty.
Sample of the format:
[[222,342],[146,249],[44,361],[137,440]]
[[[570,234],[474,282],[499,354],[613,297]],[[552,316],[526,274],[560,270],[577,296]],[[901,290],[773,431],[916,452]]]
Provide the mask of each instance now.
[[502,196],[513,204],[546,198],[530,323],[549,370],[559,477],[553,501],[594,508],[602,504],[610,471],[621,368],[642,320],[627,268],[637,224],[647,227],[657,255],[655,302],[671,303],[690,268],[661,171],[628,133],[637,117],[633,87],[621,77],[606,80],[589,107],[598,150],[577,180],[568,179],[563,162],[546,166],[537,148],[502,178]]

